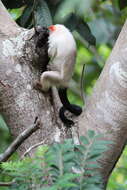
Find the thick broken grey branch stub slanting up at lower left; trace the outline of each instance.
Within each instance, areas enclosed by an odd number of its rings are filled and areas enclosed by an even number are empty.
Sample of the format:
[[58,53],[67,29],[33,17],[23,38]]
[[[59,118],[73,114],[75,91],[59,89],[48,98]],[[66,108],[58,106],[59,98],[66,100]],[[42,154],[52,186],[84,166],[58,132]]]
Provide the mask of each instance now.
[[12,144],[5,150],[3,154],[0,155],[0,162],[5,162],[8,158],[17,150],[17,148],[37,129],[39,129],[40,122],[38,118],[35,118],[34,124],[23,131],[13,142]]

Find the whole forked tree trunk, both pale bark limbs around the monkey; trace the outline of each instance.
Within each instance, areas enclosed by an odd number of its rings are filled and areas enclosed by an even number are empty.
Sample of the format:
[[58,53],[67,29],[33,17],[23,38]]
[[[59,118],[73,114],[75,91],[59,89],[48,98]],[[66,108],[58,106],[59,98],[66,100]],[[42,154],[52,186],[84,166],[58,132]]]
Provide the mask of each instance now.
[[[76,125],[66,130],[58,117],[61,103],[57,90],[43,94],[34,89],[39,80],[38,55],[35,51],[34,30],[23,29],[10,18],[0,1],[0,112],[14,137],[31,126],[35,118],[40,129],[19,148],[22,155],[31,146],[44,140],[51,144],[71,134],[77,138],[88,129],[103,133],[113,143],[100,160],[100,172],[106,185],[109,175],[126,144],[127,139],[127,22],[107,60],[93,94],[86,101]],[[6,20],[6,25],[5,25]],[[45,59],[44,59],[45,60]],[[42,60],[42,64],[44,63]],[[29,153],[32,156],[32,151]]]

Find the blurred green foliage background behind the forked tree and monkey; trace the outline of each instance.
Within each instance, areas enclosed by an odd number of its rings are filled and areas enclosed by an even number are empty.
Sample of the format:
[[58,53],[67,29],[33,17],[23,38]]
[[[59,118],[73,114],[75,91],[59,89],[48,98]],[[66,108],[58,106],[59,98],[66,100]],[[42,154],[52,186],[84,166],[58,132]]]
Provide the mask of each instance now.
[[[83,105],[81,98],[81,73],[85,64],[84,74],[84,93],[89,96],[92,93],[93,86],[103,69],[104,63],[111,53],[114,43],[119,35],[121,27],[127,16],[127,1],[126,0],[38,0],[41,6],[37,7],[37,11],[44,14],[45,19],[40,19],[39,14],[36,15],[37,23],[46,25],[47,21],[50,24],[64,23],[71,30],[77,26],[80,29],[74,29],[73,35],[77,41],[77,64],[74,77],[70,85],[69,98],[71,102]],[[3,3],[8,8],[11,16],[19,25],[26,28],[33,26],[32,0],[3,0]],[[48,6],[48,7],[47,7]],[[40,10],[39,10],[40,7]],[[45,10],[49,9],[49,14],[46,15]],[[74,14],[78,20],[71,18],[69,15]],[[49,19],[50,17],[50,19]],[[43,17],[42,17],[43,18]],[[47,20],[46,20],[47,19]],[[84,25],[80,24],[80,19]],[[40,22],[40,23],[38,23]],[[87,35],[88,24],[90,31]],[[81,32],[83,31],[83,33]],[[84,35],[85,33],[85,35]],[[96,45],[94,37],[96,39]],[[91,39],[92,38],[92,39]],[[93,44],[95,46],[93,46]],[[0,117],[0,153],[11,142],[9,130],[4,123],[2,116]],[[108,190],[124,190],[127,189],[127,149],[125,148],[122,157],[117,163],[112,176],[110,177]],[[17,158],[17,155],[16,155]],[[15,159],[15,156],[12,158]],[[0,181],[3,179],[0,176]],[[5,188],[4,188],[5,189]]]

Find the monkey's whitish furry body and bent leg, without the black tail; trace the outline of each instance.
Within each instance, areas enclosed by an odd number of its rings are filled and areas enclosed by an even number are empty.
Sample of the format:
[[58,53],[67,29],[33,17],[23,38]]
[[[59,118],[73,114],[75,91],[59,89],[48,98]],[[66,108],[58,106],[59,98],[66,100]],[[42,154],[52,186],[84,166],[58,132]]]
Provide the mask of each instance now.
[[71,32],[64,26],[55,25],[49,35],[49,70],[41,75],[42,90],[51,86],[67,87],[76,61],[76,43]]

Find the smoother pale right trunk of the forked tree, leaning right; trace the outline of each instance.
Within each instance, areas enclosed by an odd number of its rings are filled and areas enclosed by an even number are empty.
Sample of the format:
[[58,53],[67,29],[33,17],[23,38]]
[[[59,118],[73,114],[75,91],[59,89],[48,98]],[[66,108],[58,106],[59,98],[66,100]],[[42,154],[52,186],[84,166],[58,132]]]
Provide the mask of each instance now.
[[127,142],[127,21],[79,118],[79,134],[88,129],[113,143],[100,169],[105,184]]

